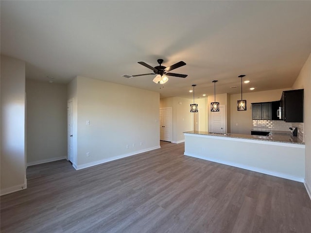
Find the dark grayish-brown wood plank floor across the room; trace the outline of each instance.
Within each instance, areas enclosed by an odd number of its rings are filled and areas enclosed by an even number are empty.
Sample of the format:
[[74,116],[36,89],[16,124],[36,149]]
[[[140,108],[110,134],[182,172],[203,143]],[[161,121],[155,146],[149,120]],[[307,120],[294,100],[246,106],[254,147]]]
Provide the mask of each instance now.
[[1,233],[310,233],[303,183],[184,156],[184,144],[76,171],[27,168]]

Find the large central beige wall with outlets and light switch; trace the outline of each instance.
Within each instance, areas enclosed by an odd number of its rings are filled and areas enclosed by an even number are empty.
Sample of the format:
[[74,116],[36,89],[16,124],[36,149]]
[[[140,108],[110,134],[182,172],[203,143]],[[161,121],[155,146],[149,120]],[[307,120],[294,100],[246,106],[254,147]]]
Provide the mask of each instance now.
[[159,148],[159,93],[81,76],[72,82],[77,169]]

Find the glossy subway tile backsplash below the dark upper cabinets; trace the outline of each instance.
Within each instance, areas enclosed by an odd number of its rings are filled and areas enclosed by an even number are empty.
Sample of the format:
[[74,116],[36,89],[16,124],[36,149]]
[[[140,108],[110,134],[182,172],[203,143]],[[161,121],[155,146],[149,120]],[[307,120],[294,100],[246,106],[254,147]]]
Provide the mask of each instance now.
[[253,120],[253,129],[289,131],[290,127],[297,128],[297,137],[303,141],[304,123],[290,123],[282,120]]

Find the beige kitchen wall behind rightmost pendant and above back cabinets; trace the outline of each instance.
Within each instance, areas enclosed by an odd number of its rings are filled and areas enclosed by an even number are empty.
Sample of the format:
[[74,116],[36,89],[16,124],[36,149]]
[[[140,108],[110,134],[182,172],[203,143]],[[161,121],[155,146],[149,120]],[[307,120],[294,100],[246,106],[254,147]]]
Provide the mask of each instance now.
[[230,125],[231,133],[250,134],[252,129],[252,106],[251,103],[269,102],[280,100],[282,91],[287,89],[277,89],[270,91],[259,91],[243,93],[243,100],[246,100],[246,111],[237,110],[237,101],[241,100],[241,94],[231,95]]

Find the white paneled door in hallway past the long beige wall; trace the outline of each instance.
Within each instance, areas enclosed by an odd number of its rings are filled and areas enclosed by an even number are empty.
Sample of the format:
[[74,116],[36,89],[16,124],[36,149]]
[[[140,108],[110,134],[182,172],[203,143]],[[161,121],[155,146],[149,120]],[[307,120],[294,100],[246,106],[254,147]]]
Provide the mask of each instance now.
[[[160,140],[172,142],[173,140],[172,108],[160,109],[160,115],[162,116],[162,125],[160,124]],[[161,129],[163,131],[162,139],[161,139]]]

